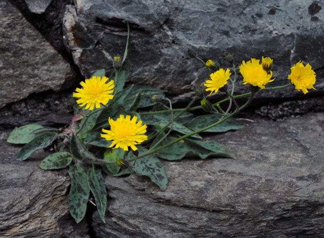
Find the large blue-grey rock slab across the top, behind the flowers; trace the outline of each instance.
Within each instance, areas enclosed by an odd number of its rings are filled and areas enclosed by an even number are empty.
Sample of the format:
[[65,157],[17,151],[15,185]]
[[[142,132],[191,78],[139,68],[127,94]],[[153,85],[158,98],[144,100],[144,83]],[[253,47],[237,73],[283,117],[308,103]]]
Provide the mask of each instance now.
[[[112,71],[113,57],[122,55],[127,27],[131,28],[129,84],[141,84],[180,95],[193,96],[192,84],[208,79],[206,68],[189,58],[197,51],[204,61],[221,60],[232,53],[237,66],[243,60],[268,56],[274,59],[271,86],[285,85],[290,67],[302,60],[317,74],[316,92],[324,89],[322,45],[323,6],[320,2],[272,1],[114,1],[82,0],[67,6],[65,43],[81,73],[89,77],[105,68]],[[248,87],[237,83],[238,93]],[[314,92],[314,91],[311,91]],[[302,96],[294,87],[264,91],[259,98]],[[217,96],[216,96],[217,97]]]

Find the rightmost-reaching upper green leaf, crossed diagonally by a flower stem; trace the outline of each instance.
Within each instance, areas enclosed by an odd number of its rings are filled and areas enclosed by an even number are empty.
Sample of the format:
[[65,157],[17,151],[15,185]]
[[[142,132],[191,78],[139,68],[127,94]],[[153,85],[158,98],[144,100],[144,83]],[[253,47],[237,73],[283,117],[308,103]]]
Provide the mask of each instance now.
[[[195,117],[191,122],[187,123],[185,126],[196,131],[204,127],[210,126],[215,122],[219,121],[220,116],[216,114],[201,115]],[[238,130],[244,127],[244,124],[234,118],[229,118],[226,121],[207,129],[204,132],[226,132],[229,130]]]

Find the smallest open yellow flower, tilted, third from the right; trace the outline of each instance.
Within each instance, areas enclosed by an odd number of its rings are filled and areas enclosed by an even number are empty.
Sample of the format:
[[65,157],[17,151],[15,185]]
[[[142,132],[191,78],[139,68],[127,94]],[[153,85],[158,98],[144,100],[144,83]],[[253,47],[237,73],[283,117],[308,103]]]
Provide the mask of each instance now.
[[213,91],[215,91],[215,93],[217,93],[217,91],[221,87],[226,85],[230,74],[231,73],[229,72],[229,69],[226,69],[226,71],[225,71],[223,68],[220,68],[216,72],[210,74],[211,80],[207,80],[206,83],[204,84],[204,86],[207,87],[207,89],[205,89],[205,90],[211,91],[211,93],[209,95],[211,95],[213,93]]

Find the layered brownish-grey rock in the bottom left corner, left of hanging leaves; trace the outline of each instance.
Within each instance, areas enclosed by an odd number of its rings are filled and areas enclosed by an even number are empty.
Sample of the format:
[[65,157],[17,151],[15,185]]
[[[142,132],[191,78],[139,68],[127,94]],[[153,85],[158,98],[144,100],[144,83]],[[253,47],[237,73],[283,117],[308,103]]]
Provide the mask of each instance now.
[[1,140],[0,147],[0,236],[89,237],[86,221],[76,224],[69,214],[67,170],[41,170],[43,150],[16,161],[21,146]]

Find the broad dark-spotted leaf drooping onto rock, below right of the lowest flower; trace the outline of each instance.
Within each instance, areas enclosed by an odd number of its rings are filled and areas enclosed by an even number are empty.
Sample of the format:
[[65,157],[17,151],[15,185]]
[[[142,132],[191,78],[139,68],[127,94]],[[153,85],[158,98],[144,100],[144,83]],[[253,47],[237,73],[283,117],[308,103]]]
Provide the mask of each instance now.
[[[142,146],[138,147],[140,147],[141,153],[147,152],[147,149]],[[167,188],[168,178],[164,166],[154,154],[138,158],[133,170],[138,175],[148,176],[162,191]]]

